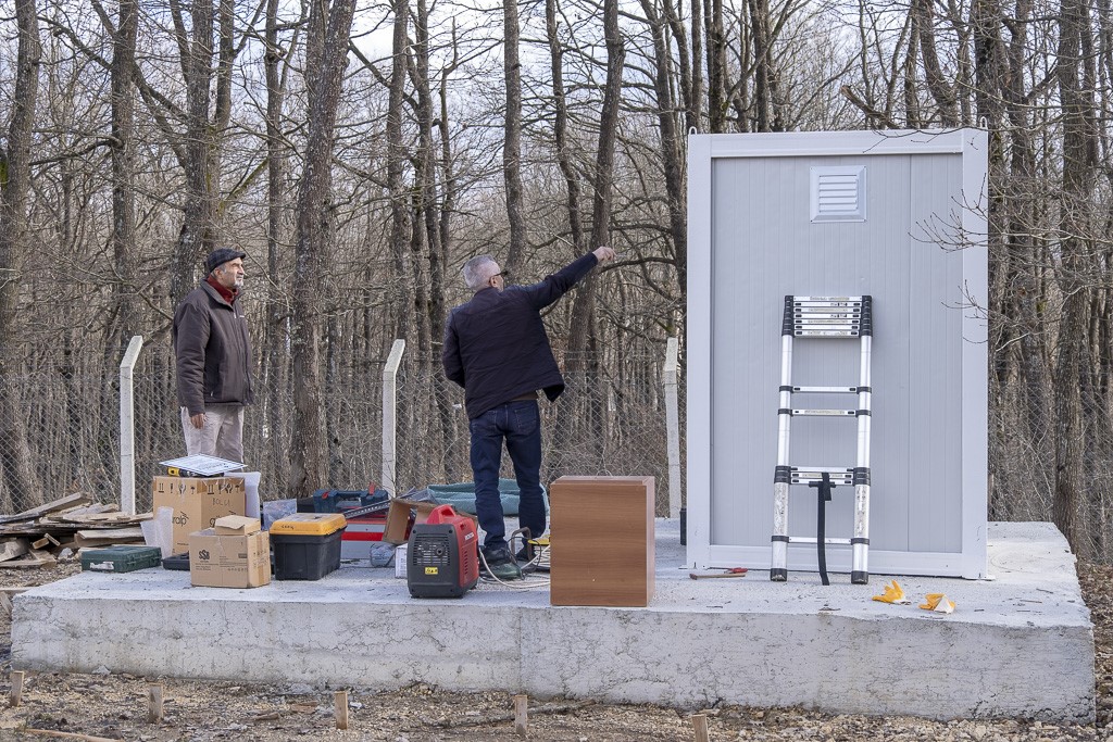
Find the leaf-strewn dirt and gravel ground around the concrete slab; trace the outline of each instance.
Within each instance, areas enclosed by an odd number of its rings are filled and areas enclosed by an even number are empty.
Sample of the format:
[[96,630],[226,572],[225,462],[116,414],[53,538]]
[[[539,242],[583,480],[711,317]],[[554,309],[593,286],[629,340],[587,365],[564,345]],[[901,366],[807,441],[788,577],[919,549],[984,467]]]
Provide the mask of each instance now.
[[[39,585],[79,565],[0,571],[0,586]],[[1080,565],[1095,642],[1095,725],[1023,719],[928,721],[913,716],[830,715],[800,709],[717,706],[678,711],[551,699],[530,702],[529,739],[572,742],[696,740],[693,713],[706,714],[719,740],[974,740],[1052,742],[1113,740],[1113,568]],[[0,611],[0,693],[10,687],[11,625]],[[1033,677],[1033,682],[1040,682]],[[164,686],[164,719],[148,721],[148,687]],[[424,684],[377,693],[348,690],[348,729],[336,729],[334,691],[307,685],[260,686],[131,675],[29,675],[18,708],[0,712],[0,740],[513,740],[506,693],[449,693]]]

